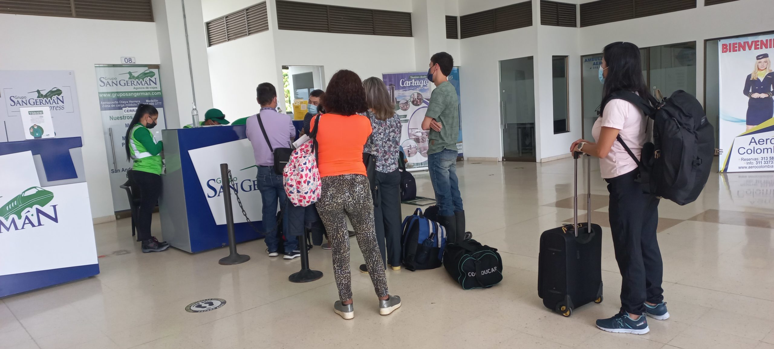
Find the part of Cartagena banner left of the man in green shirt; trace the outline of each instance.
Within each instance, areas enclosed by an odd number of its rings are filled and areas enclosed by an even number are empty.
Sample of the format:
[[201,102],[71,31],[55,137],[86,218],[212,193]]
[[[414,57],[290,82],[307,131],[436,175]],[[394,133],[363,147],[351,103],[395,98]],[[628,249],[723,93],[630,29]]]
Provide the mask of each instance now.
[[426,71],[382,74],[387,91],[395,102],[395,112],[403,125],[400,145],[414,168],[427,167],[428,136],[422,129],[430,104],[430,80]]

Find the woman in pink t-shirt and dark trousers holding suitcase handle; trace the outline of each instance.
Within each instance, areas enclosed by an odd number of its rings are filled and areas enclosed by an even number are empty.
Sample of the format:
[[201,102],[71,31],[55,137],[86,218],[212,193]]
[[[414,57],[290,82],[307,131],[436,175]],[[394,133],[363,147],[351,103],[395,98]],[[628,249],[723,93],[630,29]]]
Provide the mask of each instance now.
[[648,119],[635,104],[611,96],[632,91],[646,100],[652,98],[642,77],[639,47],[635,44],[605,46],[599,69],[603,98],[600,117],[591,132],[597,142],[578,139],[570,146],[570,152],[600,158],[602,178],[610,192],[610,229],[622,276],[622,307],[615,316],[597,320],[597,327],[608,332],[646,334],[646,315],[656,320],[670,317],[663,302],[663,262],[656,241],[659,198],[643,192],[638,164],[624,148],[628,145],[634,156],[641,158]]

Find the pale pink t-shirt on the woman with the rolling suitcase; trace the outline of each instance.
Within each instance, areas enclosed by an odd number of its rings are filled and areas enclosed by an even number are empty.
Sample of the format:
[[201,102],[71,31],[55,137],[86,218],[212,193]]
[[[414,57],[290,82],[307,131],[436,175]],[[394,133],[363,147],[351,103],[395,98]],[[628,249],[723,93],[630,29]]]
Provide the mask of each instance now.
[[[647,119],[642,110],[628,101],[614,99],[604,106],[602,117],[594,121],[591,135],[594,135],[594,139],[599,142],[599,133],[603,126],[616,128],[620,130],[618,135],[621,135],[626,145],[639,159],[640,154],[642,154],[642,145],[647,140],[646,125]],[[623,145],[616,140],[613,142],[608,156],[599,159],[599,168],[602,178],[608,179],[632,172],[637,168],[637,163],[632,159],[632,156],[628,155]]]

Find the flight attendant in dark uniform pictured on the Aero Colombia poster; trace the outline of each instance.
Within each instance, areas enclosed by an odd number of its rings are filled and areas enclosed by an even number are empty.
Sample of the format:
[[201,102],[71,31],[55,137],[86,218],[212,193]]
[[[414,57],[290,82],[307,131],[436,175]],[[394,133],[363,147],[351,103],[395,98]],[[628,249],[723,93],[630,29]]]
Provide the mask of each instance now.
[[747,130],[761,125],[774,115],[774,73],[771,70],[769,53],[755,57],[755,68],[745,80],[744,94],[750,101],[747,104]]

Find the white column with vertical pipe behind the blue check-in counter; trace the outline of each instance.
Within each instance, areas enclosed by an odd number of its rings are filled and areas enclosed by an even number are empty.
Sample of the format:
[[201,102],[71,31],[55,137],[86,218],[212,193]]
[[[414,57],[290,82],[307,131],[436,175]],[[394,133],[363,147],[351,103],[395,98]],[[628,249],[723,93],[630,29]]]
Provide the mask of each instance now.
[[[167,128],[180,128],[191,123],[193,91],[196,91],[200,120],[204,118],[204,112],[212,108],[210,68],[207,62],[207,39],[201,1],[152,0],[152,5],[156,36],[159,40],[161,87]],[[183,23],[187,23],[187,33]]]

